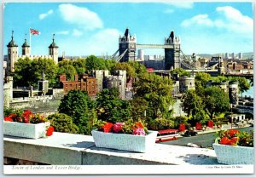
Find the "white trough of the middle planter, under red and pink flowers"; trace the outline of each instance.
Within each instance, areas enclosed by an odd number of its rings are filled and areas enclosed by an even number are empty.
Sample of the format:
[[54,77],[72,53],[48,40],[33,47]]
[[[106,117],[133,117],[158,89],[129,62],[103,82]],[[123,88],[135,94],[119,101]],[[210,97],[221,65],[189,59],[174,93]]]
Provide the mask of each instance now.
[[148,134],[113,134],[92,130],[91,134],[96,147],[105,147],[125,151],[147,152],[152,150],[156,140],[156,131],[148,131]]

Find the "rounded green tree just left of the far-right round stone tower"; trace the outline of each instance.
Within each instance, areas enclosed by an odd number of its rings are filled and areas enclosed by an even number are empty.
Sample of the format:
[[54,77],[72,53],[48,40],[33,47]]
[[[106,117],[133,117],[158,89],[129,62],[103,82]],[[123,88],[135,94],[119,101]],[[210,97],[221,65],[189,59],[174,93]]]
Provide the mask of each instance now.
[[205,97],[203,98],[203,102],[209,117],[212,118],[214,114],[217,115],[218,113],[229,111],[229,95],[224,93],[222,89],[218,87],[209,87],[205,89],[204,93]]

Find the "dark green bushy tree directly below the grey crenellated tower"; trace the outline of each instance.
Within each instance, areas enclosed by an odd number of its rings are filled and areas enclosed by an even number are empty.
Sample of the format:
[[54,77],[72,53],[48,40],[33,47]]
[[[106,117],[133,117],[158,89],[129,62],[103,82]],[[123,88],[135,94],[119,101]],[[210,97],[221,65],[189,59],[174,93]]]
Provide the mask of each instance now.
[[119,98],[117,88],[105,88],[97,94],[96,111],[98,119],[110,123],[125,122],[131,117],[131,105]]

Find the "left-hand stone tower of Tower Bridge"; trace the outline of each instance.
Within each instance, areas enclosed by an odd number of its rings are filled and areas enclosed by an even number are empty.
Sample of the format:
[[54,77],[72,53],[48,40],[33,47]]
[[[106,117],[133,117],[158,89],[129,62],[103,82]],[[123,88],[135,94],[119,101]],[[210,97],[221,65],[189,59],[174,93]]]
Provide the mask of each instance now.
[[136,59],[136,43],[136,36],[132,37],[129,28],[126,28],[125,35],[119,37],[119,56],[125,52],[119,62],[134,61]]

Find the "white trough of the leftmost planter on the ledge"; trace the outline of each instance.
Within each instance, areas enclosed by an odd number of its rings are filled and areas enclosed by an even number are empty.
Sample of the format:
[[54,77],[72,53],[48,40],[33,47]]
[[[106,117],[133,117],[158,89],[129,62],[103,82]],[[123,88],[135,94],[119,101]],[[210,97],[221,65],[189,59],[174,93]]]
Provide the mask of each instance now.
[[45,123],[32,124],[3,121],[3,134],[38,139],[44,137]]

